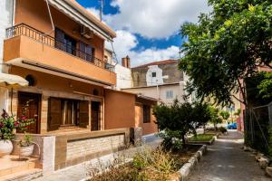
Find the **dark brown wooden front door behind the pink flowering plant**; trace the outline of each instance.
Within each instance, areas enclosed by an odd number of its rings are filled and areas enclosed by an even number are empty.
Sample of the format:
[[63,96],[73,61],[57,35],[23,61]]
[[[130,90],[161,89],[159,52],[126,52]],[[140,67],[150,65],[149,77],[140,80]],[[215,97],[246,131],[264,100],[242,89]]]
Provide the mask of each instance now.
[[[28,102],[28,108],[26,104]],[[18,92],[18,109],[17,116],[21,117],[25,115],[27,119],[34,119],[34,123],[27,126],[26,132],[38,134],[40,133],[40,105],[41,95],[27,92]],[[17,132],[22,132],[18,130]]]

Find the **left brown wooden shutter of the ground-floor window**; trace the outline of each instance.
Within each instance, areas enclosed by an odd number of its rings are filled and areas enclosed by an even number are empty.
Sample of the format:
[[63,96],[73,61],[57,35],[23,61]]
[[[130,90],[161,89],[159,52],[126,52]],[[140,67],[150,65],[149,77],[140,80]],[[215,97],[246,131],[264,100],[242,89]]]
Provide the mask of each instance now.
[[48,111],[48,130],[60,128],[62,121],[62,101],[50,98]]

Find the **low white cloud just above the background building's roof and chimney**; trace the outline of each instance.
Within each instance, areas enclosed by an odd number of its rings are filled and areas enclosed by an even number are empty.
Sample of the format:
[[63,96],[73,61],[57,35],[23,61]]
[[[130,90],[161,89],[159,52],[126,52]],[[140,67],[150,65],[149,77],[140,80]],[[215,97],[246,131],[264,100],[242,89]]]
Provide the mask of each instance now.
[[[149,48],[142,51],[132,51],[138,44],[137,38],[127,31],[116,31],[113,47],[116,52],[117,59],[121,63],[121,58],[129,55],[131,57],[131,66],[141,65],[147,62],[161,61],[171,58],[179,58],[180,49],[177,46],[170,46],[166,49]],[[111,44],[106,46],[112,50]]]

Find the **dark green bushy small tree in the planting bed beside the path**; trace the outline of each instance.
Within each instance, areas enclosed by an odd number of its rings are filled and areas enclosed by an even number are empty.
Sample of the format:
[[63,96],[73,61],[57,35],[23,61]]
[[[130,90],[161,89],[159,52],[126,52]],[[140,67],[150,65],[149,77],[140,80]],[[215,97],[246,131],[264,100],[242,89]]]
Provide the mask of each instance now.
[[189,102],[180,103],[175,100],[172,105],[160,104],[154,107],[153,114],[156,117],[159,129],[167,136],[163,137],[163,145],[171,147],[173,138],[182,140],[186,145],[185,136],[188,133],[196,133],[199,126],[206,124],[209,119],[209,107],[206,103]]

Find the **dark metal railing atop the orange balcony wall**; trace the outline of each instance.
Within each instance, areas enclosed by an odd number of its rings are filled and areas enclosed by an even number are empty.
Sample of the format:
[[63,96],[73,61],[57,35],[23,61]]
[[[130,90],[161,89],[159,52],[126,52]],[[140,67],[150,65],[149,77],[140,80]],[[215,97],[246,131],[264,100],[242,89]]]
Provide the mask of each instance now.
[[37,42],[44,43],[53,48],[57,48],[63,52],[67,52],[73,56],[80,58],[84,62],[92,63],[95,66],[101,67],[102,69],[113,71],[112,65],[109,64],[108,62],[103,62],[102,60],[94,57],[92,54],[76,49],[70,44],[63,43],[48,34],[36,30],[35,28],[27,24],[18,24],[10,28],[7,28],[5,31],[5,36],[7,39],[20,35],[27,36],[29,38],[34,39]]

